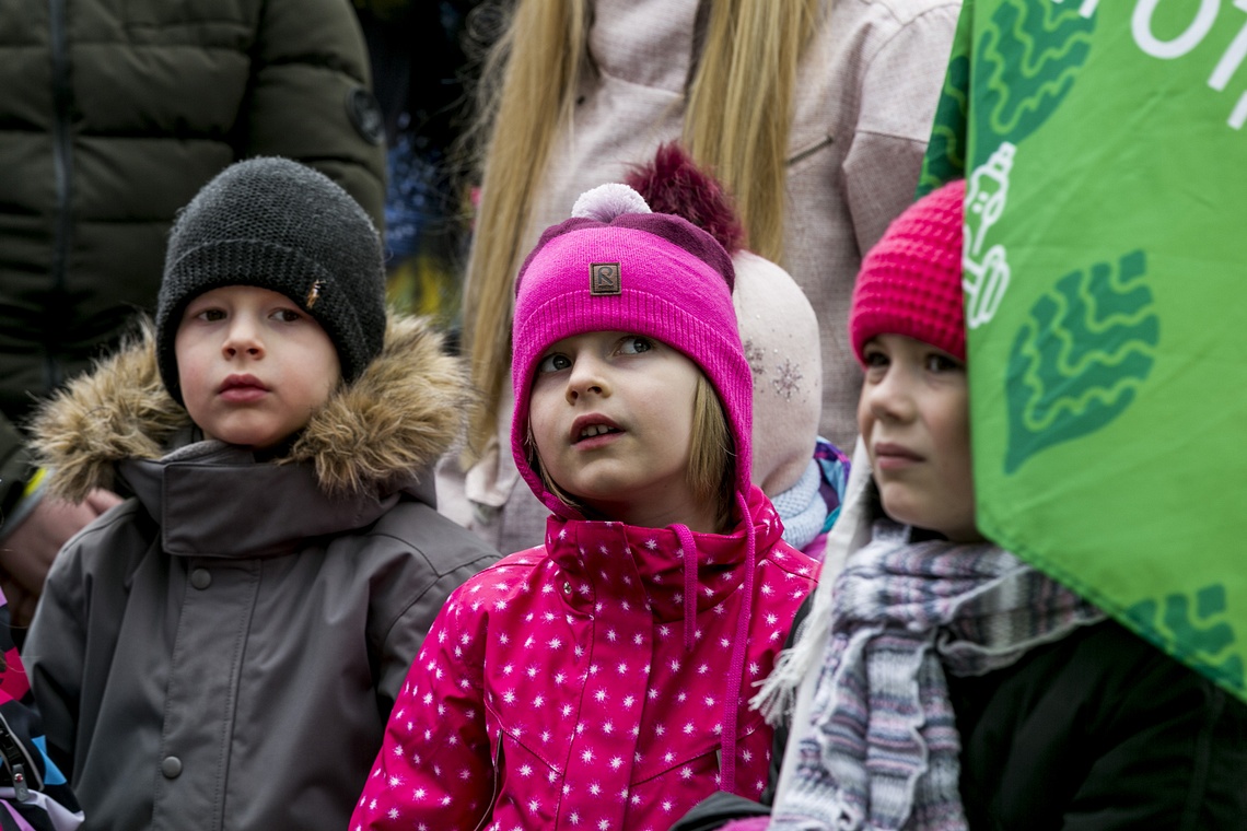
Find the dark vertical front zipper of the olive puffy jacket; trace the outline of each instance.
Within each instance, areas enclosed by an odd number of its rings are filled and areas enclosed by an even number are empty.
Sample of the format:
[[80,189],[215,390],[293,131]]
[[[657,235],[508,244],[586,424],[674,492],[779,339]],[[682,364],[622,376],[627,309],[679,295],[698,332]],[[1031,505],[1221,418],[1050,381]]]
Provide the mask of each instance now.
[[[70,214],[72,140],[70,136],[70,117],[72,110],[72,90],[70,87],[69,42],[66,35],[66,2],[69,0],[50,0],[50,26],[52,42],[52,105],[56,110],[52,120],[52,164],[56,171],[56,229],[52,239],[52,285],[56,294],[66,289],[66,270],[69,268],[69,244],[72,230]],[[45,343],[45,361],[47,389],[61,382],[61,368],[52,354],[51,338]]]

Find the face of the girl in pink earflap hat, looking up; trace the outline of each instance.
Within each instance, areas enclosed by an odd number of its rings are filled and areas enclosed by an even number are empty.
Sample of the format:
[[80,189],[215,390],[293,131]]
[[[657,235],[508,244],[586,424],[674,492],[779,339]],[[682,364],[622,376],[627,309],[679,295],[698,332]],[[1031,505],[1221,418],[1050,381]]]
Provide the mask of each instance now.
[[712,506],[688,483],[700,370],[651,338],[592,331],[542,353],[529,422],[554,482],[611,520],[696,528]]

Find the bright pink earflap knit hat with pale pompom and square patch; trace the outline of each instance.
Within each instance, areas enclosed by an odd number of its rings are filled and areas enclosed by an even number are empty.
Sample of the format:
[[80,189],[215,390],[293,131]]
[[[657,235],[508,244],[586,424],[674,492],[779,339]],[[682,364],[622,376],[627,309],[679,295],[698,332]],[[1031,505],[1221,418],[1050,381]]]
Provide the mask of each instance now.
[[736,328],[733,280],[731,258],[710,234],[680,217],[652,213],[626,184],[586,191],[571,219],[541,234],[516,279],[511,452],[546,507],[580,518],[529,465],[529,396],[537,360],[564,338],[606,330],[653,338],[701,368],[736,442],[736,490],[748,495],[753,380]]

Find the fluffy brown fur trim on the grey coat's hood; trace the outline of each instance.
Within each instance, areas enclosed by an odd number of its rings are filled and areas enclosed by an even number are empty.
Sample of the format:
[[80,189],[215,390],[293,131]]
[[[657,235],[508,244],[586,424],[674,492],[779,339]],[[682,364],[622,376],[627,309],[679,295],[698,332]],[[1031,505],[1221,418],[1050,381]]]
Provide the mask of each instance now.
[[[311,462],[329,493],[382,493],[431,471],[476,405],[461,361],[426,321],[390,314],[385,348],[339,386],[278,463]],[[115,486],[115,465],[156,460],[191,425],[165,390],[151,324],[96,369],[70,381],[31,422],[52,493],[82,500]]]

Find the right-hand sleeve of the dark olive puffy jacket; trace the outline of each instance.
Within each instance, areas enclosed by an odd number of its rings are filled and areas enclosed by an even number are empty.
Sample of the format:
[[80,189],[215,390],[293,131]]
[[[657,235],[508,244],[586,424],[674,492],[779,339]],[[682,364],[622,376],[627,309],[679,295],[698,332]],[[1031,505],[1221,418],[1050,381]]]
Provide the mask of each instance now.
[[286,156],[384,222],[385,147],[368,50],[345,0],[269,0],[256,36],[243,156]]

